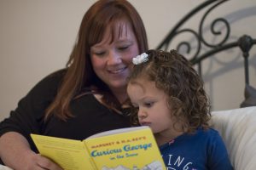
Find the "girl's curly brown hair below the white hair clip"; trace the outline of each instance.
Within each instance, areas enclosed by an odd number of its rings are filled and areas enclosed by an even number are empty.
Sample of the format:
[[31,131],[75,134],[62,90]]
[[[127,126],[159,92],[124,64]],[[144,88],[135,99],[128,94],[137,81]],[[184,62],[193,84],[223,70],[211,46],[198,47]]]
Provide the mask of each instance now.
[[[209,101],[203,81],[189,60],[175,50],[170,53],[148,50],[146,53],[148,60],[134,65],[129,83],[137,78],[147,78],[148,81],[155,82],[155,87],[169,96],[167,106],[177,122],[183,125],[179,130],[194,133],[198,127],[207,129],[211,118]],[[132,111],[131,118],[137,125],[136,110]]]

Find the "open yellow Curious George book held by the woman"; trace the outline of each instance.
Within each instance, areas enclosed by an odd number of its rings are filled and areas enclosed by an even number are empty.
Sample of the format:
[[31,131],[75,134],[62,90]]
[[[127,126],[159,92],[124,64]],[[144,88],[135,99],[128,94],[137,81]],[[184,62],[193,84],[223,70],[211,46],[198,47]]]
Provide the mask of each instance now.
[[164,170],[150,127],[126,127],[74,140],[31,134],[39,153],[65,170]]

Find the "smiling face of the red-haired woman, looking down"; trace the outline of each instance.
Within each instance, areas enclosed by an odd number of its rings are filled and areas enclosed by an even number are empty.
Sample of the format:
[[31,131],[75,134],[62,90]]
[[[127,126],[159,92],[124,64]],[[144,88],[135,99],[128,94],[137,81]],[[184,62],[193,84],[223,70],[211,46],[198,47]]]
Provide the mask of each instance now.
[[[119,23],[120,24],[120,23]],[[113,32],[107,28],[102,42],[90,48],[91,63],[96,75],[105,82],[113,92],[124,90],[127,77],[131,72],[131,59],[139,54],[137,38],[131,25],[122,23]]]

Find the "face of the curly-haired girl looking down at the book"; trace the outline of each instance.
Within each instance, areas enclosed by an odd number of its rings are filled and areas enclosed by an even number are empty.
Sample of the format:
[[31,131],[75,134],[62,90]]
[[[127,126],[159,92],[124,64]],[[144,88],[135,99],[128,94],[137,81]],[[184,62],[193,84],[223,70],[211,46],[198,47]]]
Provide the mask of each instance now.
[[127,93],[132,105],[138,108],[137,116],[141,125],[151,127],[153,133],[165,136],[175,134],[171,110],[167,106],[167,95],[156,88],[154,82],[139,77],[128,83]]

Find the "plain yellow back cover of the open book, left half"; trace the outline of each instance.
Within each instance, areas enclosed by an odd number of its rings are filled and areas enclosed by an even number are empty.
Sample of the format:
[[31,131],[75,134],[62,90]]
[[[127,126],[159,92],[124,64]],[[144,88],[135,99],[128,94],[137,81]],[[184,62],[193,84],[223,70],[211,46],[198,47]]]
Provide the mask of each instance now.
[[79,140],[61,139],[31,134],[42,156],[49,157],[65,170],[94,170],[84,143]]

